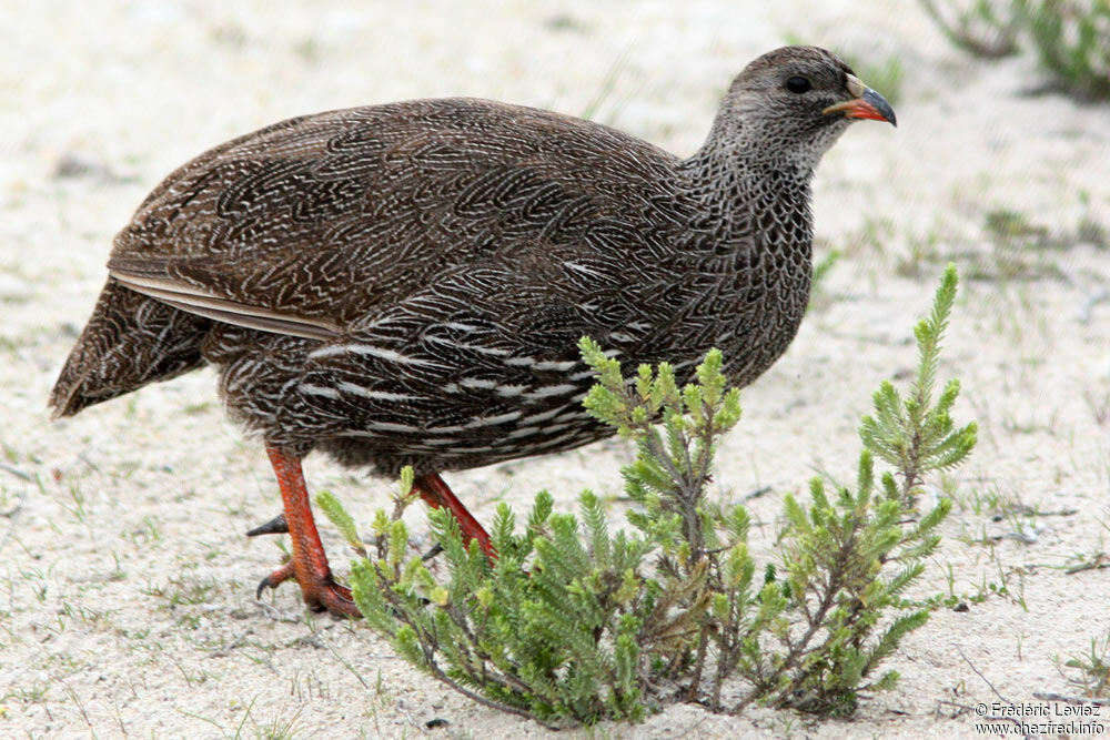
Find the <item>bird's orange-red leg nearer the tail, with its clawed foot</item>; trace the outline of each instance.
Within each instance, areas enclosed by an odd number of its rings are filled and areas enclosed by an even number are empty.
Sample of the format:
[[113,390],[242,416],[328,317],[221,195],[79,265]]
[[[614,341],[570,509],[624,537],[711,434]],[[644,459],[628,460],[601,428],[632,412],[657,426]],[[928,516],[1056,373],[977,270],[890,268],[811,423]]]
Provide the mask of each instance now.
[[361,616],[351,598],[351,589],[340,586],[332,579],[327,555],[324,553],[323,543],[320,541],[316,521],[312,517],[309,491],[304,486],[304,474],[301,472],[301,459],[269,445],[266,454],[270,455],[270,463],[278,475],[293,558],[263,578],[259,591],[268,586],[276,588],[282,581],[295,578],[301,586],[301,596],[310,609],[326,610],[345,617]]

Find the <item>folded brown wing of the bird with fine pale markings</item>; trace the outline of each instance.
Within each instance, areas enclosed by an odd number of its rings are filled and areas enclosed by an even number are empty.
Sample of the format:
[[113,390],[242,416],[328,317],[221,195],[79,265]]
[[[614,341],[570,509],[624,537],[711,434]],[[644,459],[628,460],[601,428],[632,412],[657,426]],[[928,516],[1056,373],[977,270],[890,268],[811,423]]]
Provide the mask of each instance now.
[[642,224],[688,217],[676,165],[613,129],[483,100],[332,111],[172,173],[108,267],[183,311],[330,339],[474,264],[546,281],[562,260],[582,271],[573,294],[591,272],[629,274],[629,253],[663,259],[673,239]]

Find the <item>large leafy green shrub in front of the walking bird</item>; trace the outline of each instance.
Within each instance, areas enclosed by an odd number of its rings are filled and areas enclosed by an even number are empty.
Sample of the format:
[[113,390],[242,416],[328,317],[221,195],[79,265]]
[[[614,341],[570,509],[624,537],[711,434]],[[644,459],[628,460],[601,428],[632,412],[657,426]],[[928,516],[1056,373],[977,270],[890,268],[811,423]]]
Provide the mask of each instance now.
[[[679,385],[666,363],[625,378],[583,338],[597,374],[587,410],[637,445],[623,470],[633,531],[610,531],[589,491],[578,516],[555,513],[541,491],[521,531],[498,507],[493,561],[464,544],[448,514],[430,511],[443,547],[442,562],[430,562],[402,519],[415,499],[406,469],[392,515],[377,511],[367,557],[352,566],[366,622],[456,690],[544,722],[635,721],[675,701],[728,713],[753,702],[850,713],[860,692],[895,686],[897,673],[880,665],[929,617],[904,594],[951,504],[920,515],[916,493],[975,444],[975,425],[957,429],[949,416],[958,384],[932,398],[955,293],[949,266],[916,331],[921,361],[909,396],[889,384],[875,396],[856,484],[829,490],[815,479],[807,504],[788,495],[779,547],[763,562],[749,551],[745,508],[707,496],[717,444],[740,417],[720,353]],[[878,475],[875,457],[894,469]],[[339,501],[325,504],[364,547]]]

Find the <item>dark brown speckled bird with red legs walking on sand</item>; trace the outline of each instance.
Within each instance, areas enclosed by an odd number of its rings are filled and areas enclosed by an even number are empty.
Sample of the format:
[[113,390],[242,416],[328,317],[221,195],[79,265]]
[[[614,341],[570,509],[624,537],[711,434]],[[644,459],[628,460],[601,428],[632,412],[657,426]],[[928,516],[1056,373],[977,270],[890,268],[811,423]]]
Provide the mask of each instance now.
[[817,47],[776,49],[682,159],[613,128],[473,98],[293,118],[165,178],[115,236],[49,404],[54,417],[204,365],[261,439],[312,610],[359,617],[332,575],[302,459],[412,466],[466,541],[496,553],[442,478],[613,434],[582,401],[589,336],[689,377],[713,347],[751,383],[794,339],[823,154],[890,104]]

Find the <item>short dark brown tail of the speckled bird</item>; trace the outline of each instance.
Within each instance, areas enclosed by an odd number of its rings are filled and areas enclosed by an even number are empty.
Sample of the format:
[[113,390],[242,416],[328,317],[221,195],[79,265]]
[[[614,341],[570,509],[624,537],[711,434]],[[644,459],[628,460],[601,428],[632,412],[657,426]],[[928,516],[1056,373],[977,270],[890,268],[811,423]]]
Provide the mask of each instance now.
[[200,367],[211,323],[109,277],[50,392],[53,417]]

